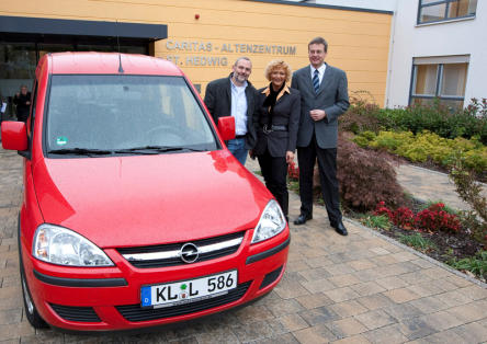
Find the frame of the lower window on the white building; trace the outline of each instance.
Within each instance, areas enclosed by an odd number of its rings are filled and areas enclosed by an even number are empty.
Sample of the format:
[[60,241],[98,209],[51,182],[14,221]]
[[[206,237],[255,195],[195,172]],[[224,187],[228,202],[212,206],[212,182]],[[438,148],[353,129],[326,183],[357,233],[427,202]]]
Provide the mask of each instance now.
[[[415,58],[412,58],[412,68],[411,68],[411,78],[410,78],[411,81],[410,81],[410,85],[409,85],[409,100],[408,100],[409,106],[414,105],[412,101],[415,99],[428,99],[428,100],[439,99],[439,100],[446,100],[446,101],[462,101],[463,102],[462,107],[463,107],[465,105],[465,95],[463,95],[463,96],[441,95],[441,88],[443,84],[444,65],[452,65],[452,64],[455,64],[455,61],[449,61],[446,57],[443,57],[443,61],[441,61],[442,57],[437,57],[437,59],[440,61],[429,64],[429,65],[437,65],[437,81],[435,81],[435,85],[434,85],[434,95],[426,95],[426,94],[416,94],[415,93],[418,66],[426,65],[426,64],[418,64],[418,62],[415,64]],[[467,65],[466,73],[465,73],[465,79],[467,79],[468,67],[469,67],[469,56],[466,61],[462,61],[462,62]],[[466,84],[465,84],[465,89],[466,89]],[[465,94],[465,90],[464,90],[464,94]]]

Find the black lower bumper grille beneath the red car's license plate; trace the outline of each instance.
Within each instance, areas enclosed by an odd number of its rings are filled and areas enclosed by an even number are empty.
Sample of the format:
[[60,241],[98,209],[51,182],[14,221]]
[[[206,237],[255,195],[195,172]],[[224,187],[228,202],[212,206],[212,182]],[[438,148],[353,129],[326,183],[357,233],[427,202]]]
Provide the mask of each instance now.
[[226,295],[191,303],[154,309],[141,308],[140,305],[116,306],[115,308],[126,320],[133,322],[191,314],[239,300],[246,294],[250,284],[251,280],[239,284],[237,288]]

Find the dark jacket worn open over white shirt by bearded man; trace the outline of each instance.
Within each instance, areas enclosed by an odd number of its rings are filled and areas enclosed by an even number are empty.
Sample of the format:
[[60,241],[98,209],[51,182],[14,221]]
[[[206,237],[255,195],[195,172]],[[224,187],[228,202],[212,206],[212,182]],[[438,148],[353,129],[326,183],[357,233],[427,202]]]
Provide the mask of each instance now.
[[[217,79],[206,85],[205,105],[209,111],[215,124],[218,124],[218,118],[224,116],[231,116],[231,78]],[[257,141],[256,129],[252,124],[252,116],[256,111],[256,88],[247,81],[246,98],[247,98],[247,137],[246,148],[252,149]]]

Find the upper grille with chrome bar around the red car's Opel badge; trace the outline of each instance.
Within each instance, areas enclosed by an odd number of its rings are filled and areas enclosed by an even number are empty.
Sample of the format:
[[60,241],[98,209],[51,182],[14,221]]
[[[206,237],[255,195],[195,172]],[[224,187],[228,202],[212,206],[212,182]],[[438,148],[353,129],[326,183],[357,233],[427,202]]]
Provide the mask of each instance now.
[[[237,252],[244,240],[245,231],[191,241],[197,248],[196,262],[214,260]],[[117,249],[128,263],[135,267],[166,267],[186,264],[181,259],[181,249],[189,242],[170,243],[152,246]]]

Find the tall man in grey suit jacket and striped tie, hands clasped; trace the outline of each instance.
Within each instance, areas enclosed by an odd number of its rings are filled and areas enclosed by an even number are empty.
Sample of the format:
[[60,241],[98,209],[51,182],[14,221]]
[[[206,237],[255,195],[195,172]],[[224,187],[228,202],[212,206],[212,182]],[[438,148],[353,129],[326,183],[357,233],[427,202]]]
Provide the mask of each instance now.
[[347,236],[340,211],[337,180],[338,116],[349,107],[347,74],[325,62],[328,44],[316,37],[308,44],[310,65],[293,74],[291,87],[301,92],[297,133],[301,214],[294,221],[303,225],[313,218],[313,171],[318,158],[321,193],[331,227]]

